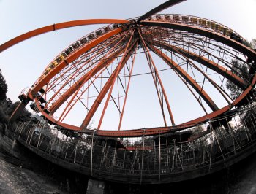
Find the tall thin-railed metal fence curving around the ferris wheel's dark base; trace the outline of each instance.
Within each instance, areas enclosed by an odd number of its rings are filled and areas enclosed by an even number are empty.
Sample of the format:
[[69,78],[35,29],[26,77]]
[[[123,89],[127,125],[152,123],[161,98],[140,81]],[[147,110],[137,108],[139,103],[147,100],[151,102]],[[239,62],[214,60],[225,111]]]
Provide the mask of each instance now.
[[[184,131],[157,136],[110,138],[78,132],[58,131],[48,124],[19,123],[15,138],[26,147],[40,150],[56,160],[64,160],[109,174],[146,176],[175,174],[225,163],[255,144],[255,107],[247,107],[229,117],[208,120]],[[191,136],[184,141],[182,134]],[[200,134],[204,134],[200,136]],[[192,136],[197,138],[192,138]]]

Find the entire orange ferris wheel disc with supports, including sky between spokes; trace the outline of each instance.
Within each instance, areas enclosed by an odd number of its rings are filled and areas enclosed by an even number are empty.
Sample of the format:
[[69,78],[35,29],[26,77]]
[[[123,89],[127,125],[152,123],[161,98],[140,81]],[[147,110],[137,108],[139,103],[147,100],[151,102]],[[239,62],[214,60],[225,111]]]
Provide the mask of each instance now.
[[[219,117],[254,96],[256,52],[236,31],[192,15],[157,14],[167,1],[138,18],[57,23],[0,46],[0,52],[48,31],[106,24],[64,48],[20,95],[50,124],[100,135],[165,133]],[[248,76],[234,66],[243,63]],[[240,95],[230,95],[226,84]]]

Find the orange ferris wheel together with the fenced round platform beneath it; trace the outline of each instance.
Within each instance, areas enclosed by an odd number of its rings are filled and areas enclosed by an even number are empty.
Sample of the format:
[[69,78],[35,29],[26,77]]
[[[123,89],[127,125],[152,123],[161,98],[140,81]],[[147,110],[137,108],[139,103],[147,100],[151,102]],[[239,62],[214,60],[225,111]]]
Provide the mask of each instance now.
[[[179,2],[129,20],[45,26],[2,44],[0,52],[48,31],[107,24],[62,50],[20,94],[11,120],[29,101],[39,115],[20,123],[15,138],[66,168],[132,183],[203,176],[255,152],[255,50],[213,20],[157,14]],[[148,88],[154,93],[143,93]]]

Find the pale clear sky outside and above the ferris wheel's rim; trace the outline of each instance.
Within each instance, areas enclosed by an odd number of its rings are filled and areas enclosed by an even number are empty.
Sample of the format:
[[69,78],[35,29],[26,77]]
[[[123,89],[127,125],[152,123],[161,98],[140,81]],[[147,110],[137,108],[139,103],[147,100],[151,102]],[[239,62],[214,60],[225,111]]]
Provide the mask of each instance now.
[[[0,0],[0,44],[35,28],[68,20],[132,18],[143,15],[165,1],[60,1]],[[256,0],[188,0],[163,13],[196,15],[232,28],[249,41],[256,38]],[[7,97],[18,100],[45,66],[68,44],[97,29],[83,26],[34,37],[0,53],[0,69],[7,80]]]

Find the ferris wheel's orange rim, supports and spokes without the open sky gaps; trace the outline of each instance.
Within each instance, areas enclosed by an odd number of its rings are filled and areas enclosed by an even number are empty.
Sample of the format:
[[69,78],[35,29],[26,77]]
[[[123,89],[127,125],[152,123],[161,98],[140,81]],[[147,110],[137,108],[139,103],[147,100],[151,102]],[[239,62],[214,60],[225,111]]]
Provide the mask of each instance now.
[[[184,128],[197,125],[198,123],[203,123],[206,120],[211,120],[216,117],[221,117],[224,114],[228,114],[228,112],[235,106],[248,104],[252,98],[255,98],[253,93],[256,82],[255,50],[247,47],[246,41],[235,31],[212,20],[190,15],[156,15],[160,10],[179,2],[181,1],[167,1],[165,4],[146,13],[146,15],[129,20],[93,19],[57,23],[30,31],[2,44],[0,46],[0,52],[3,52],[18,42],[22,42],[23,40],[48,31],[56,31],[74,26],[109,24],[108,26],[104,26],[83,36],[81,39],[70,44],[67,48],[61,51],[61,53],[48,64],[45,71],[43,71],[42,75],[37,79],[29,91],[20,95],[22,103],[12,114],[11,119],[15,120],[15,117],[20,113],[20,110],[22,110],[29,101],[34,101],[39,112],[41,112],[50,123],[74,131],[86,130],[89,127],[91,118],[99,108],[99,104],[105,99],[104,108],[102,109],[102,114],[97,127],[97,135],[118,137],[149,136],[158,133],[167,133],[169,131],[180,131]],[[171,44],[172,42],[173,44]],[[206,44],[208,45],[207,47],[202,46]],[[154,86],[157,90],[159,106],[165,125],[162,127],[154,126],[146,129],[120,130],[128,96],[129,82],[132,77],[131,72],[135,60],[135,53],[138,47],[142,48],[143,53],[146,55],[148,66],[154,80]],[[166,53],[163,52],[163,50],[165,50]],[[159,75],[159,70],[154,63],[151,52],[159,58],[162,58],[167,66],[169,66],[170,69],[173,69],[177,76],[180,77],[188,90],[195,96],[200,106],[202,106],[206,115],[176,125],[170,108],[169,97],[165,92],[165,85]],[[175,55],[176,58],[182,58],[182,62],[178,63],[178,60],[175,61],[174,58],[170,58],[167,53]],[[89,58],[91,56],[100,58],[100,60],[97,61],[97,64],[93,63],[92,65],[91,62],[86,63],[84,61],[83,64],[82,62],[78,63],[79,60],[86,60],[86,57]],[[93,59],[93,57],[91,58]],[[116,69],[109,75],[105,85],[100,87],[101,90],[99,90],[99,94],[95,97],[94,103],[88,108],[88,113],[82,124],[76,126],[64,123],[62,117],[66,117],[68,112],[72,109],[69,109],[69,107],[72,106],[74,101],[80,101],[82,98],[79,96],[80,93],[86,92],[86,88],[83,88],[84,85],[89,85],[90,80],[91,87],[94,87],[94,82],[92,82],[91,79],[96,79],[100,76],[102,77],[104,72],[108,71],[108,66],[110,66],[110,64],[118,57],[121,59],[118,61]],[[213,60],[213,58],[215,58],[215,60]],[[242,77],[241,73],[237,72],[236,69],[233,69],[230,58],[236,59],[241,63],[246,63],[250,74],[249,80]],[[87,61],[89,60],[87,59]],[[196,69],[196,71],[203,75],[203,83],[198,84],[195,77],[193,78],[192,75],[189,75],[186,69],[181,67],[184,61],[189,63],[187,66],[190,68],[192,66],[193,69]],[[112,90],[115,90],[116,80],[121,77],[121,74],[119,73],[125,68],[124,66],[127,66],[127,63],[130,64],[129,68],[127,67],[127,71],[129,71],[129,76],[127,76],[128,84],[126,87],[123,87],[125,95],[123,104],[122,106],[119,106],[118,109],[120,112],[118,128],[114,131],[100,130],[109,101],[115,101],[111,92]],[[223,78],[223,80],[225,79],[233,82],[233,84],[237,85],[238,88],[241,88],[243,91],[241,95],[235,99],[230,98],[227,90],[211,79],[206,72],[207,70],[204,71],[205,69],[200,69],[198,64],[206,67],[206,69],[215,71]],[[74,70],[72,66],[78,70]],[[80,69],[83,69],[83,71],[86,71],[83,73],[83,77],[78,77],[78,73],[80,72],[78,66]],[[65,80],[68,77],[64,77],[65,79],[61,78],[64,74],[68,74],[69,78],[71,77],[69,81]],[[210,82],[212,87],[216,88],[219,94],[225,101],[227,101],[226,106],[219,108],[212,100],[211,96],[203,89],[206,80],[207,82]],[[67,85],[69,86],[67,87]],[[55,93],[53,91],[55,91]],[[48,97],[48,93],[53,94]],[[119,94],[118,98],[121,98]],[[45,99],[48,99],[48,101],[45,101]],[[208,106],[207,108],[203,104],[202,99]],[[67,106],[64,108],[64,111],[61,110],[60,117],[56,119],[54,113],[58,111],[66,101],[68,101]],[[53,104],[50,106],[50,103],[52,102]],[[211,109],[210,113],[206,110],[208,108]],[[165,115],[165,112],[167,112],[167,115]],[[169,123],[171,123],[171,125],[167,124],[167,117],[170,120]]]

